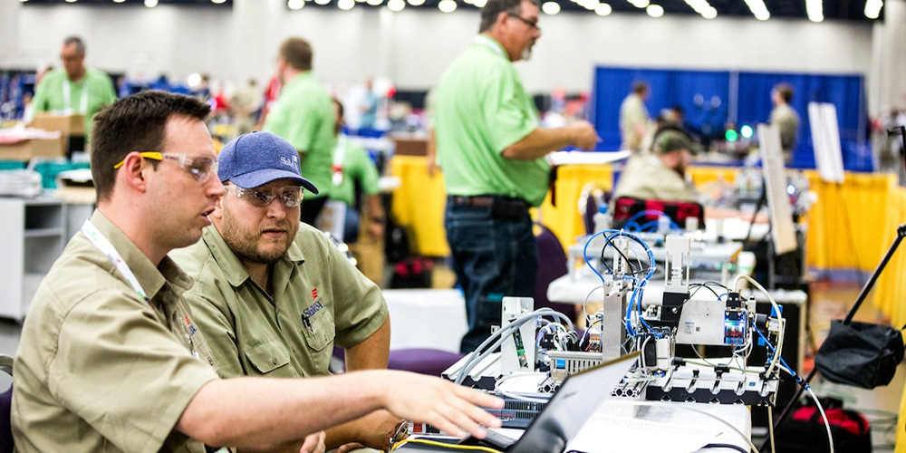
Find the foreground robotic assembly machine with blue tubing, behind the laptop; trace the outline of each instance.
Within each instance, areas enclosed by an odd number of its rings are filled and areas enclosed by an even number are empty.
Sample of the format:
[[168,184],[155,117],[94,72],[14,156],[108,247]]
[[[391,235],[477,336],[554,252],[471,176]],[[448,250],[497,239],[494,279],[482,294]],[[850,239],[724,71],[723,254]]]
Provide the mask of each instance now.
[[[689,283],[692,238],[660,236],[658,242],[666,248],[661,304],[641,303],[646,286],[660,284],[651,281],[656,266],[648,242],[606,230],[583,250],[601,279],[592,294],[603,289],[602,300],[587,301],[602,309],[585,313],[584,331],[562,313],[534,310],[531,298],[506,297],[500,329],[444,376],[504,397],[506,406],[496,413],[510,428],[525,428],[570,374],[631,352],[641,352],[640,359],[612,390],[614,397],[774,406],[781,371],[795,376],[780,357],[786,326],[780,306],[747,275],[730,287]],[[770,315],[756,313],[755,296],[741,293],[752,293],[747,284],[766,294]],[[684,349],[690,357],[680,357],[678,344],[721,346],[725,356],[706,359],[692,347]],[[748,360],[756,348],[766,348],[764,362]],[[529,376],[535,377],[530,389],[507,385]]]

